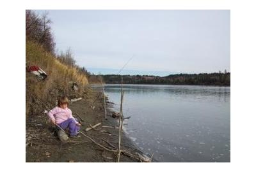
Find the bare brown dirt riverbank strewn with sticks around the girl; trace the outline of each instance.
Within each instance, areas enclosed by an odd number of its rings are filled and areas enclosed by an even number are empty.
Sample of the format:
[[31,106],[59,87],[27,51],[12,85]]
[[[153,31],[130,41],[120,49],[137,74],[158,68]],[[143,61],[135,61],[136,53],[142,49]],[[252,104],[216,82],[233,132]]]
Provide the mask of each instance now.
[[[101,95],[100,95],[101,94]],[[91,107],[90,107],[91,106]],[[92,108],[95,106],[95,108]],[[108,103],[108,107],[111,103]],[[115,118],[111,117],[108,110],[108,120],[104,119],[103,97],[101,92],[91,90],[83,95],[81,101],[69,105],[74,116],[76,113],[84,119],[81,131],[101,145],[108,146],[103,140],[118,147],[118,129],[102,127],[102,125],[117,126]],[[53,107],[49,107],[53,108]],[[95,125],[101,122],[96,129],[85,131],[89,124]],[[26,121],[26,162],[115,162],[116,152],[108,152],[92,141],[85,138],[73,138],[68,143],[61,144],[54,134],[55,127],[49,122],[45,113],[29,117]],[[102,140],[103,139],[103,140]],[[132,141],[122,134],[122,148],[134,152],[136,147]],[[138,152],[138,151],[137,151]],[[138,162],[138,160],[127,155],[121,155],[121,162]]]

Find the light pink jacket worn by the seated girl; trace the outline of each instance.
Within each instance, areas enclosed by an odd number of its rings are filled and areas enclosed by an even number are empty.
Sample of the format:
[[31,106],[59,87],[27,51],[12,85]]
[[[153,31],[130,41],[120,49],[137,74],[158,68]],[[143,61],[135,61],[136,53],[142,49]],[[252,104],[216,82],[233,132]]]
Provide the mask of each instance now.
[[[72,116],[72,111],[70,109],[68,109],[68,108],[63,109],[58,106],[56,106],[55,108],[50,110],[48,112],[48,116],[51,118],[51,120],[55,120],[55,122],[57,124],[64,122],[68,118],[74,118]],[[74,120],[76,121],[75,118],[74,118]],[[78,123],[78,122],[76,121],[76,123]]]

